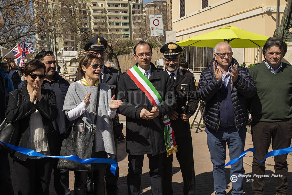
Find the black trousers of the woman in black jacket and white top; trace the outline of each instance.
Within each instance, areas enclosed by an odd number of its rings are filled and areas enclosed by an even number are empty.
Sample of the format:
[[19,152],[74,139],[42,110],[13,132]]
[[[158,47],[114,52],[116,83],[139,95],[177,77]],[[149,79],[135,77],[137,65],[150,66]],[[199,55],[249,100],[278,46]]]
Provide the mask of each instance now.
[[50,158],[13,160],[18,195],[49,195],[53,161]]

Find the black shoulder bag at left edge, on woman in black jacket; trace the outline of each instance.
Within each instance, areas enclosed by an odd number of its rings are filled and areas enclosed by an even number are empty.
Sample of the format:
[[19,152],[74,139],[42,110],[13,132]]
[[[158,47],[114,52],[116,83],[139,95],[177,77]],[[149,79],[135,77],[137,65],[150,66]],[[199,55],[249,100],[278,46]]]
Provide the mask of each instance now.
[[[20,106],[21,100],[19,98],[19,91],[17,91],[17,107]],[[15,122],[8,122],[5,118],[0,125],[0,141],[5,142],[11,145],[18,145],[20,140],[20,132],[18,130],[18,121]],[[4,144],[0,143],[0,150],[4,150],[7,152],[14,152],[13,149],[5,146]]]

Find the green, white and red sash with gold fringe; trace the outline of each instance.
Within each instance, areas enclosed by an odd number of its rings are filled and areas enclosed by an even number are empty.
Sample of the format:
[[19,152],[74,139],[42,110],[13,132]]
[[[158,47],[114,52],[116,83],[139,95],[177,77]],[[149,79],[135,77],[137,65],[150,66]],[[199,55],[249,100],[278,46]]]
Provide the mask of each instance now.
[[[126,73],[131,77],[131,79],[135,82],[135,84],[142,90],[142,92],[145,92],[145,95],[150,100],[153,106],[156,106],[157,104],[162,102],[162,98],[160,94],[157,92],[157,90],[152,85],[152,83],[142,74],[138,66],[135,65]],[[162,121],[165,125],[164,126],[164,141],[165,141],[167,156],[169,156],[175,153],[176,151],[178,151],[178,149],[175,144],[174,132],[170,124],[169,116],[165,115],[164,117],[162,117]]]

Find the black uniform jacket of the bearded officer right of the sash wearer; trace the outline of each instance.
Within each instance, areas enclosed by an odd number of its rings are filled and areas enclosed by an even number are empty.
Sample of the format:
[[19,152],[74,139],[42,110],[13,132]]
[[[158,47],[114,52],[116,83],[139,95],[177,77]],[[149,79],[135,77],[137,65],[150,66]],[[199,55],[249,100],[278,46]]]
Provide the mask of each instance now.
[[[192,116],[197,110],[199,102],[193,74],[187,70],[181,70],[178,68],[178,73],[173,86],[177,100],[177,105],[174,110],[180,115],[183,113],[181,107],[184,106],[185,113]],[[170,120],[170,122],[171,127],[174,130],[174,137],[184,137],[191,134],[189,120],[185,122],[180,116],[178,116],[178,119]]]

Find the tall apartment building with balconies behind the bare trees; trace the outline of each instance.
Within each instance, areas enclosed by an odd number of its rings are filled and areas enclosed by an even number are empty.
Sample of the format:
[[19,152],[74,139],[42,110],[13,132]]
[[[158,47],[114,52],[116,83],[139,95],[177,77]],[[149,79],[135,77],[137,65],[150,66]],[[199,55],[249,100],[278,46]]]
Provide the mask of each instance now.
[[[52,9],[50,3],[51,0],[48,0],[48,4],[37,2],[34,6],[41,8],[40,10],[43,8]],[[142,0],[92,0],[91,3],[79,2],[78,17],[76,17],[78,20],[77,25],[79,25],[77,29],[80,32],[88,32],[87,34],[98,34],[102,37],[116,40],[138,39],[139,37],[135,36],[135,28],[140,26],[141,23],[142,5]],[[54,6],[54,8],[60,7]],[[68,22],[70,23],[71,21],[68,20]],[[86,37],[82,38],[85,39]],[[38,34],[36,36],[37,50],[54,50],[53,39],[53,33],[51,32]],[[76,34],[64,33],[58,28],[56,29],[56,40],[57,51],[61,51],[62,48],[62,51],[83,49],[76,40]]]

